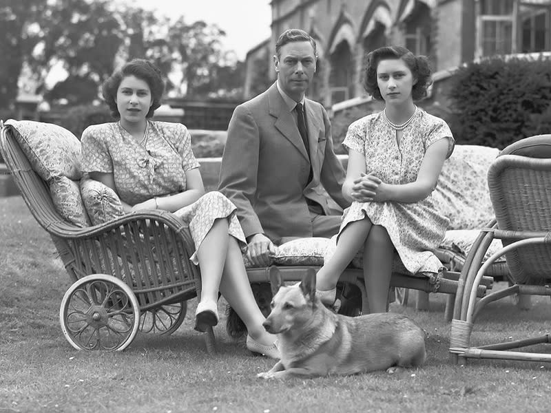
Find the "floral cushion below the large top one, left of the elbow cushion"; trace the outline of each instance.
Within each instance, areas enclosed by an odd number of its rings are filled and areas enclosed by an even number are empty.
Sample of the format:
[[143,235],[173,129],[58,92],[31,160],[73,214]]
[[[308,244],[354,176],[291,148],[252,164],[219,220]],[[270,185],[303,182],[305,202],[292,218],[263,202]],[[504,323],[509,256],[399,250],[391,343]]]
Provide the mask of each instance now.
[[54,207],[65,220],[76,226],[90,226],[90,219],[81,198],[79,182],[65,176],[52,179],[50,194]]

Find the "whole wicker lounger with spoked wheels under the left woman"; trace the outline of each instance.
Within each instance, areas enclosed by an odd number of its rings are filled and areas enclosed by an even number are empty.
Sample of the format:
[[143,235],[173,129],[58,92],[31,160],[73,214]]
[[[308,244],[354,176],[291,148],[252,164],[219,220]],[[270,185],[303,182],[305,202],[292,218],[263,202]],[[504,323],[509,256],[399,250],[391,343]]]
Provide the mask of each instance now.
[[[200,290],[187,228],[165,211],[131,213],[85,228],[70,224],[15,134],[7,125],[1,128],[0,152],[73,282],[60,309],[67,341],[77,349],[123,350],[138,330],[174,332],[185,318],[187,300]],[[207,350],[214,351],[212,328],[205,339]]]

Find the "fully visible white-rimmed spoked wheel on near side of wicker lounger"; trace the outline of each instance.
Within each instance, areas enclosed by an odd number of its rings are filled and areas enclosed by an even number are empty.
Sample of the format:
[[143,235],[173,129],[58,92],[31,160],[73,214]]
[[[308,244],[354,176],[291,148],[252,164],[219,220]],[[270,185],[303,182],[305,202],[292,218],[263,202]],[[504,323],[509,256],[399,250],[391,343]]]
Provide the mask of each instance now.
[[63,296],[59,321],[65,339],[77,350],[124,350],[138,332],[140,308],[120,279],[87,275]]

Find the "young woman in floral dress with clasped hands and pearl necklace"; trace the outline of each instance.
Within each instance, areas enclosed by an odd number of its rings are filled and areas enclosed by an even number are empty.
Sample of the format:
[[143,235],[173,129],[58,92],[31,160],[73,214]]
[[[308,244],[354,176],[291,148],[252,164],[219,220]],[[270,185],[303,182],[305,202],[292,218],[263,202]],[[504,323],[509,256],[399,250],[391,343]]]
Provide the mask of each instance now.
[[384,110],[356,120],[343,145],[349,149],[344,211],[333,256],[318,272],[318,295],[335,300],[344,268],[361,251],[370,313],[386,311],[393,256],[410,273],[437,273],[433,254],[448,226],[433,200],[444,160],[455,145],[440,118],[417,107],[426,96],[430,68],[425,56],[404,47],[381,47],[367,56],[364,87]]

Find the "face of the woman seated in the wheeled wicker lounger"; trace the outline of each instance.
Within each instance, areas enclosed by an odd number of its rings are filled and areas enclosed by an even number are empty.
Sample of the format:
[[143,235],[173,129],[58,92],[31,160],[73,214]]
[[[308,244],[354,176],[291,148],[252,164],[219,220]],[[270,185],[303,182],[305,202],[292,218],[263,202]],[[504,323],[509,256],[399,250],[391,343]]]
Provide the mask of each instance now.
[[123,123],[142,122],[151,105],[153,98],[146,81],[136,76],[123,78],[116,91],[116,107]]

